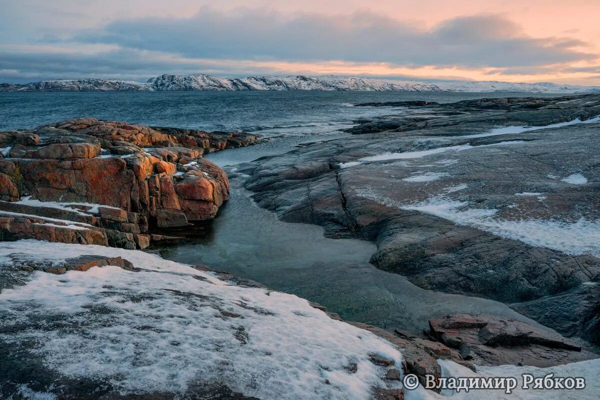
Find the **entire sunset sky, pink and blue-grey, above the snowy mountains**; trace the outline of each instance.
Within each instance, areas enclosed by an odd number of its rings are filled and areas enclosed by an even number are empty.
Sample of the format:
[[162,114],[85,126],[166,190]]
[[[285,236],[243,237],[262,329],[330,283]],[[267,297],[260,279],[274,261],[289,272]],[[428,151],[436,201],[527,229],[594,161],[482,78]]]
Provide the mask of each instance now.
[[0,82],[353,75],[600,86],[600,0],[0,0]]

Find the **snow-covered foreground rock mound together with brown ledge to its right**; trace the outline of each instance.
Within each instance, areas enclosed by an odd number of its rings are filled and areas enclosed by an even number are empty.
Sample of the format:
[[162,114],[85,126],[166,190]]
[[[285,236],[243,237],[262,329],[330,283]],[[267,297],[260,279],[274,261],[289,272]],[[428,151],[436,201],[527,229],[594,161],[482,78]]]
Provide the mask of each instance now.
[[430,320],[421,335],[341,322],[204,265],[98,246],[0,243],[0,299],[3,398],[266,400],[308,390],[311,399],[400,400],[405,374],[422,384],[442,377],[438,360],[475,374],[597,356],[485,315]]

